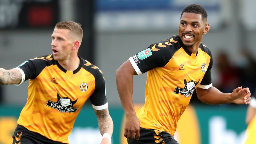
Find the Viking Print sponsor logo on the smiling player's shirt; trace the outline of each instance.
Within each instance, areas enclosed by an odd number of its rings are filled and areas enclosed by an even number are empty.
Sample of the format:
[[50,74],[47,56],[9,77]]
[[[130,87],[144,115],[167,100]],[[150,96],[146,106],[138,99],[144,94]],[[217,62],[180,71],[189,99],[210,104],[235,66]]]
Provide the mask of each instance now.
[[174,93],[181,94],[181,95],[184,95],[186,97],[189,97],[193,94],[193,92],[195,90],[195,86],[198,84],[198,82],[195,83],[192,80],[187,82],[186,79],[184,79],[185,87],[184,88],[176,87]]

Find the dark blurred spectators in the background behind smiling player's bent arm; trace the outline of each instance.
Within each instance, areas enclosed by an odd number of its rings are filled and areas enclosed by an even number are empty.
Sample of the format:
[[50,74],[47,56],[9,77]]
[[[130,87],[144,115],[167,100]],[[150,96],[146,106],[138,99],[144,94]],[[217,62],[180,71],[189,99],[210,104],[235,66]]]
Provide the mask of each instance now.
[[[212,77],[213,86],[222,92],[231,93],[235,88],[249,87],[251,94],[255,94],[256,88],[256,59],[249,50],[243,49],[240,54],[240,62],[232,61],[229,53],[219,51],[216,58],[213,59],[213,69],[216,69],[217,77]],[[235,58],[234,58],[235,59]],[[193,93],[191,103],[201,103]]]

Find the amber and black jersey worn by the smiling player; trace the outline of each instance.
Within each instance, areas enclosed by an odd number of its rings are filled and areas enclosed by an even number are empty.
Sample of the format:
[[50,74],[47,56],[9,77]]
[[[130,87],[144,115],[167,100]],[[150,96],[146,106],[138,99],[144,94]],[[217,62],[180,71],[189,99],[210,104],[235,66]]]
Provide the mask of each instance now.
[[193,91],[212,86],[212,56],[202,43],[191,53],[175,35],[129,58],[137,74],[147,73],[145,105],[138,111],[142,128],[170,133],[189,104]]

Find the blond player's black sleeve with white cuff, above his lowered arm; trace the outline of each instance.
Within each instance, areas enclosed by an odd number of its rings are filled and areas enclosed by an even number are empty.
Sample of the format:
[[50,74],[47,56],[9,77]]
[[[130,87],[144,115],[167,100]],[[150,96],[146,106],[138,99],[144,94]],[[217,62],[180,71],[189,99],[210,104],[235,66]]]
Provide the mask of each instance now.
[[102,110],[108,107],[105,80],[100,71],[98,71],[98,73],[95,75],[95,89],[90,96],[90,100],[92,107],[96,110]]

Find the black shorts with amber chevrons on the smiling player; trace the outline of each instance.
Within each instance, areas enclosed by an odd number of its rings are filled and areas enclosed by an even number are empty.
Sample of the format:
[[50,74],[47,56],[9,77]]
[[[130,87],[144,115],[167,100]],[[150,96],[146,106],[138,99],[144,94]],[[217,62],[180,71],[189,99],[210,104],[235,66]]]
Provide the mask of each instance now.
[[[156,133],[156,132],[157,133]],[[159,133],[158,130],[140,128],[140,139],[127,140],[128,144],[179,144],[173,137],[167,132]]]

